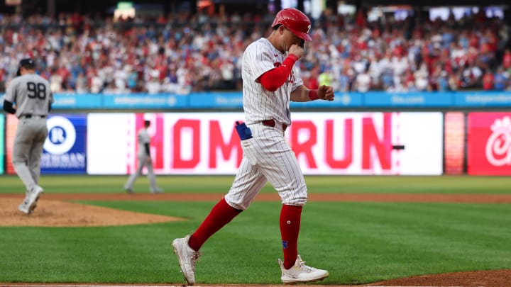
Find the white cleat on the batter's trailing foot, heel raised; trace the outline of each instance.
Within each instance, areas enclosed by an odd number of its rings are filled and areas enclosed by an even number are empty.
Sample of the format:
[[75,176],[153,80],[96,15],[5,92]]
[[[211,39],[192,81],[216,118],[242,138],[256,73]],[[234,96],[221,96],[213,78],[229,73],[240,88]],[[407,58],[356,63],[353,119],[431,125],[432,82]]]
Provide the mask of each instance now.
[[181,273],[185,276],[188,285],[193,285],[195,283],[195,261],[199,259],[202,253],[189,247],[189,237],[190,235],[184,238],[176,238],[172,241],[172,247],[174,247],[174,253],[180,263]]

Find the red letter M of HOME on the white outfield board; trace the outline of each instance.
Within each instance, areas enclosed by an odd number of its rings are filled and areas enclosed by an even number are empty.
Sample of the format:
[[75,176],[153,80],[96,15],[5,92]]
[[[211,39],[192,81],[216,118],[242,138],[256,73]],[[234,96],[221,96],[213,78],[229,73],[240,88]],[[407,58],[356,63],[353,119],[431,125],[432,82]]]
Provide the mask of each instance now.
[[216,150],[220,148],[221,155],[224,159],[229,159],[231,152],[236,148],[238,154],[238,167],[243,157],[243,150],[241,150],[241,143],[238,134],[235,133],[235,128],[231,130],[231,140],[226,145],[224,137],[222,137],[221,129],[218,120],[211,120],[209,122],[209,167],[216,167]]

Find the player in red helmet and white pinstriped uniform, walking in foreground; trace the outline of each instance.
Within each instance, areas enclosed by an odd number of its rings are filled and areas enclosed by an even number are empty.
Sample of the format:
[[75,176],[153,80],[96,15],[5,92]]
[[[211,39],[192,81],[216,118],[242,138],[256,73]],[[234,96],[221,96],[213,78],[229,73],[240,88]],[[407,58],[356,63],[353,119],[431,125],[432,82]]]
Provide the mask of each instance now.
[[248,131],[241,136],[243,159],[236,178],[229,193],[216,203],[199,228],[172,242],[182,274],[190,285],[195,282],[195,261],[202,244],[248,208],[266,181],[282,200],[284,260],[278,259],[282,282],[304,283],[329,276],[326,270],[305,265],[297,252],[307,186],[284,133],[291,124],[290,101],[333,101],[334,91],[331,86],[308,89],[295,71],[295,62],[304,54],[304,41],[312,40],[308,35],[309,18],[297,9],[283,9],[275,16],[272,27],[268,38],[255,40],[243,54],[243,111]]

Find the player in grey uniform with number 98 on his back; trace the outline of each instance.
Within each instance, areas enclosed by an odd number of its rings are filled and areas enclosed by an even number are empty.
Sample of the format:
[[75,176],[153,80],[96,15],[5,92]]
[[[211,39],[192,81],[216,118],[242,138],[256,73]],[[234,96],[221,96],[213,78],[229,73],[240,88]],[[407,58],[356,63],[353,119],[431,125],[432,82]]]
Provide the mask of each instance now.
[[4,110],[19,119],[13,143],[12,163],[16,174],[26,186],[26,196],[18,206],[22,213],[30,214],[37,205],[43,188],[38,186],[40,159],[48,135],[46,118],[51,110],[53,94],[50,83],[35,74],[32,59],[18,64],[18,77],[7,88]]

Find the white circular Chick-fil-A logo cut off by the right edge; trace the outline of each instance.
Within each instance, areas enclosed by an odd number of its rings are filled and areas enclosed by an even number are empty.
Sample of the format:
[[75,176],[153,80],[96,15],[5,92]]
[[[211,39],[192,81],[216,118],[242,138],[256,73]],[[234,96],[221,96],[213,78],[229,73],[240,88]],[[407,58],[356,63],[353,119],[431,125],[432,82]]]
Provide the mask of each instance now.
[[495,167],[511,164],[511,119],[505,116],[491,125],[492,134],[486,142],[485,154]]

